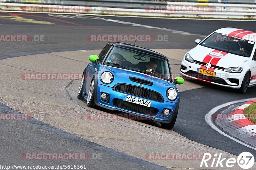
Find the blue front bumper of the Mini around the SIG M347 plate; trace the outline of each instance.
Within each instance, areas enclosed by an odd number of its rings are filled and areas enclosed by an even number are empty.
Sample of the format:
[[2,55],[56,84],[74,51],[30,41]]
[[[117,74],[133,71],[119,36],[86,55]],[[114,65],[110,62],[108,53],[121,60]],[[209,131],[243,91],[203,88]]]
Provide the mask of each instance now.
[[[100,95],[102,92],[109,94],[109,98],[110,98],[109,103],[107,103],[101,99]],[[151,107],[156,108],[158,110],[158,112],[156,113],[156,115],[152,116],[152,115],[141,114],[136,111],[131,111],[131,110],[127,110],[127,109],[123,109],[123,108],[119,108],[119,107],[115,106],[115,104],[114,104],[115,99],[123,100],[124,95],[129,95],[129,96],[133,96],[133,97],[137,97],[140,99],[151,101]],[[100,106],[100,107],[103,107],[103,108],[106,108],[106,109],[109,109],[112,111],[120,111],[122,113],[124,112],[124,113],[133,114],[133,115],[139,115],[142,117],[147,117],[150,120],[153,120],[156,122],[162,122],[162,123],[171,122],[174,115],[177,113],[177,110],[179,107],[179,103],[176,104],[176,103],[172,103],[172,102],[168,102],[168,101],[159,102],[159,101],[155,101],[155,100],[149,100],[149,99],[145,99],[145,98],[142,98],[139,96],[134,96],[132,94],[126,94],[124,92],[119,92],[119,91],[113,90],[112,87],[102,85],[102,84],[97,85],[97,91],[94,90],[94,102],[97,106]],[[138,105],[138,107],[140,107],[140,105]],[[164,109],[169,109],[171,111],[170,115],[168,115],[167,117],[164,117],[161,115],[161,113]]]

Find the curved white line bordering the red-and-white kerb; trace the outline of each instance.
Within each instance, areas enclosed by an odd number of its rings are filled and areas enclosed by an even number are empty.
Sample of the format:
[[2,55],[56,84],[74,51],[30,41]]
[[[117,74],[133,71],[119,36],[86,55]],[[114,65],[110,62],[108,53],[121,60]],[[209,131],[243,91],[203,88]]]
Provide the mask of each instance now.
[[236,101],[231,101],[231,102],[228,102],[228,103],[224,103],[224,104],[222,104],[222,105],[220,105],[220,106],[217,106],[217,107],[214,107],[212,110],[210,110],[210,112],[205,115],[204,119],[205,119],[205,121],[212,127],[212,129],[216,130],[216,131],[219,132],[221,135],[224,135],[225,137],[228,137],[228,138],[230,138],[230,139],[236,141],[237,143],[242,144],[242,145],[244,145],[244,146],[246,146],[246,147],[248,147],[248,148],[251,148],[251,149],[253,149],[253,150],[256,150],[256,148],[254,148],[254,147],[252,147],[252,146],[250,146],[250,145],[248,145],[248,144],[245,144],[245,143],[243,143],[243,142],[241,142],[241,141],[235,139],[234,137],[231,137],[231,136],[227,135],[227,134],[224,133],[223,131],[221,131],[217,126],[215,126],[215,124],[212,122],[212,119],[211,119],[212,115],[213,115],[217,110],[219,110],[219,109],[222,108],[222,107],[226,107],[226,106],[232,105],[232,104],[234,104],[234,103],[246,102],[246,101],[255,100],[255,99],[256,99],[256,98],[250,98],[250,99],[236,100]]

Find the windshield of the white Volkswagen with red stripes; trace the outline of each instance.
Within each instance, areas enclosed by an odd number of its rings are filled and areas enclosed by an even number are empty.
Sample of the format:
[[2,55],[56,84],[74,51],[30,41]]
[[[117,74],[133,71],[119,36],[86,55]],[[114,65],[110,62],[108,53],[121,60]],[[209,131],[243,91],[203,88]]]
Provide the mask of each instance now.
[[250,57],[254,42],[241,38],[230,37],[226,34],[213,33],[200,45],[235,55]]

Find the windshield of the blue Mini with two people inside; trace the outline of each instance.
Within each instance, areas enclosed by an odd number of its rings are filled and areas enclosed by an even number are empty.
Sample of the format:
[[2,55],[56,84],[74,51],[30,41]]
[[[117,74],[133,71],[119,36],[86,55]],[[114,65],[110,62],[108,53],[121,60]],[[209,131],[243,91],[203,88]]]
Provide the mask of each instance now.
[[171,81],[171,70],[167,59],[138,51],[114,47],[104,64]]

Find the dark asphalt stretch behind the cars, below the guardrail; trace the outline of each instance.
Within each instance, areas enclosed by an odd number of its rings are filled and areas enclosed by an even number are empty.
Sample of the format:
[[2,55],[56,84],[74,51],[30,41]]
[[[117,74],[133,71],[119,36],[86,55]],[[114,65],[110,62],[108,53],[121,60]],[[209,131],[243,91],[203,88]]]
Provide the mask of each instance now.
[[[11,15],[11,16],[10,16]],[[108,17],[108,16],[92,16],[81,18],[59,18],[58,14],[49,16],[47,14],[32,14],[32,13],[6,13],[1,12],[1,30],[5,34],[17,33],[21,35],[44,35],[45,40],[37,42],[28,42],[22,44],[22,48],[18,43],[1,44],[0,54],[34,51],[34,50],[50,50],[50,49],[101,49],[105,42],[87,41],[88,35],[98,34],[134,34],[137,35],[168,35],[168,41],[156,42],[137,42],[137,45],[147,48],[193,48],[195,47],[194,40],[202,39],[202,36],[207,36],[216,29],[237,26],[241,23],[241,27],[248,30],[254,30],[254,22],[246,21],[205,21],[205,20],[176,20],[176,19],[153,19],[153,18],[125,18],[125,17]],[[8,16],[8,19],[6,19]],[[13,17],[25,18],[22,20],[10,19]],[[130,23],[159,27],[162,29],[150,28],[143,26],[132,26],[132,24],[120,24],[106,20],[112,19],[117,21],[129,21]],[[28,20],[30,19],[30,20]],[[35,20],[47,21],[43,24],[33,24]],[[30,23],[28,23],[30,22]],[[166,31],[168,29],[168,31]],[[181,32],[180,32],[181,31]],[[82,35],[82,36],[81,36]],[[23,53],[25,54],[25,53]],[[29,54],[29,53],[28,53]],[[16,54],[17,55],[17,54]]]

